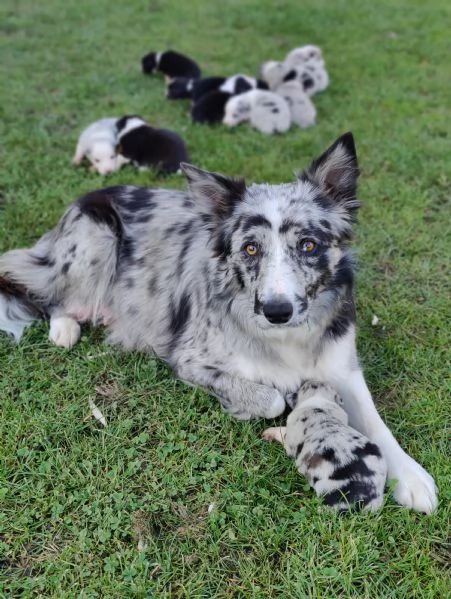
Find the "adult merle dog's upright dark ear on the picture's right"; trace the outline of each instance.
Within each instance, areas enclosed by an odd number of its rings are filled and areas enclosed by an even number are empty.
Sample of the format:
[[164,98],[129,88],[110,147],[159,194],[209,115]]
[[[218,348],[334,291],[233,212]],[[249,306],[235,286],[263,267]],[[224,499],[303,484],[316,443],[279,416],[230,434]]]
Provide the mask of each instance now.
[[301,180],[310,180],[330,198],[353,214],[360,206],[356,199],[359,166],[351,132],[339,137],[324,154],[302,173]]

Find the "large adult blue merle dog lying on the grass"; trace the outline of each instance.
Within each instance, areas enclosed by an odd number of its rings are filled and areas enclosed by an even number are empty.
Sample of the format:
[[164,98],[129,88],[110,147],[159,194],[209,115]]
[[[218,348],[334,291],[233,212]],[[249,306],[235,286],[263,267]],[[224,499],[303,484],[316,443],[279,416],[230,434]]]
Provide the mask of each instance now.
[[329,384],[380,447],[397,501],[432,512],[434,481],[383,423],[357,358],[352,134],[292,183],[182,167],[188,191],[89,193],[34,247],[1,256],[0,329],[19,339],[47,317],[50,339],[70,347],[80,322],[102,323],[239,419],[278,416],[305,380]]

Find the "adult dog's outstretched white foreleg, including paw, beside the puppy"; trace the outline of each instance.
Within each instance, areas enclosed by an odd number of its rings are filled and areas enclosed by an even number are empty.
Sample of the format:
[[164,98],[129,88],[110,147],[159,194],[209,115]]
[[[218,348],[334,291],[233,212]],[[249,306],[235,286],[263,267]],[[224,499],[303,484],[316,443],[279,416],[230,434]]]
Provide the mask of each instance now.
[[408,456],[384,424],[374,405],[361,370],[353,370],[336,381],[351,426],[374,441],[388,466],[388,477],[395,479],[393,495],[398,503],[426,514],[437,507],[434,479]]

